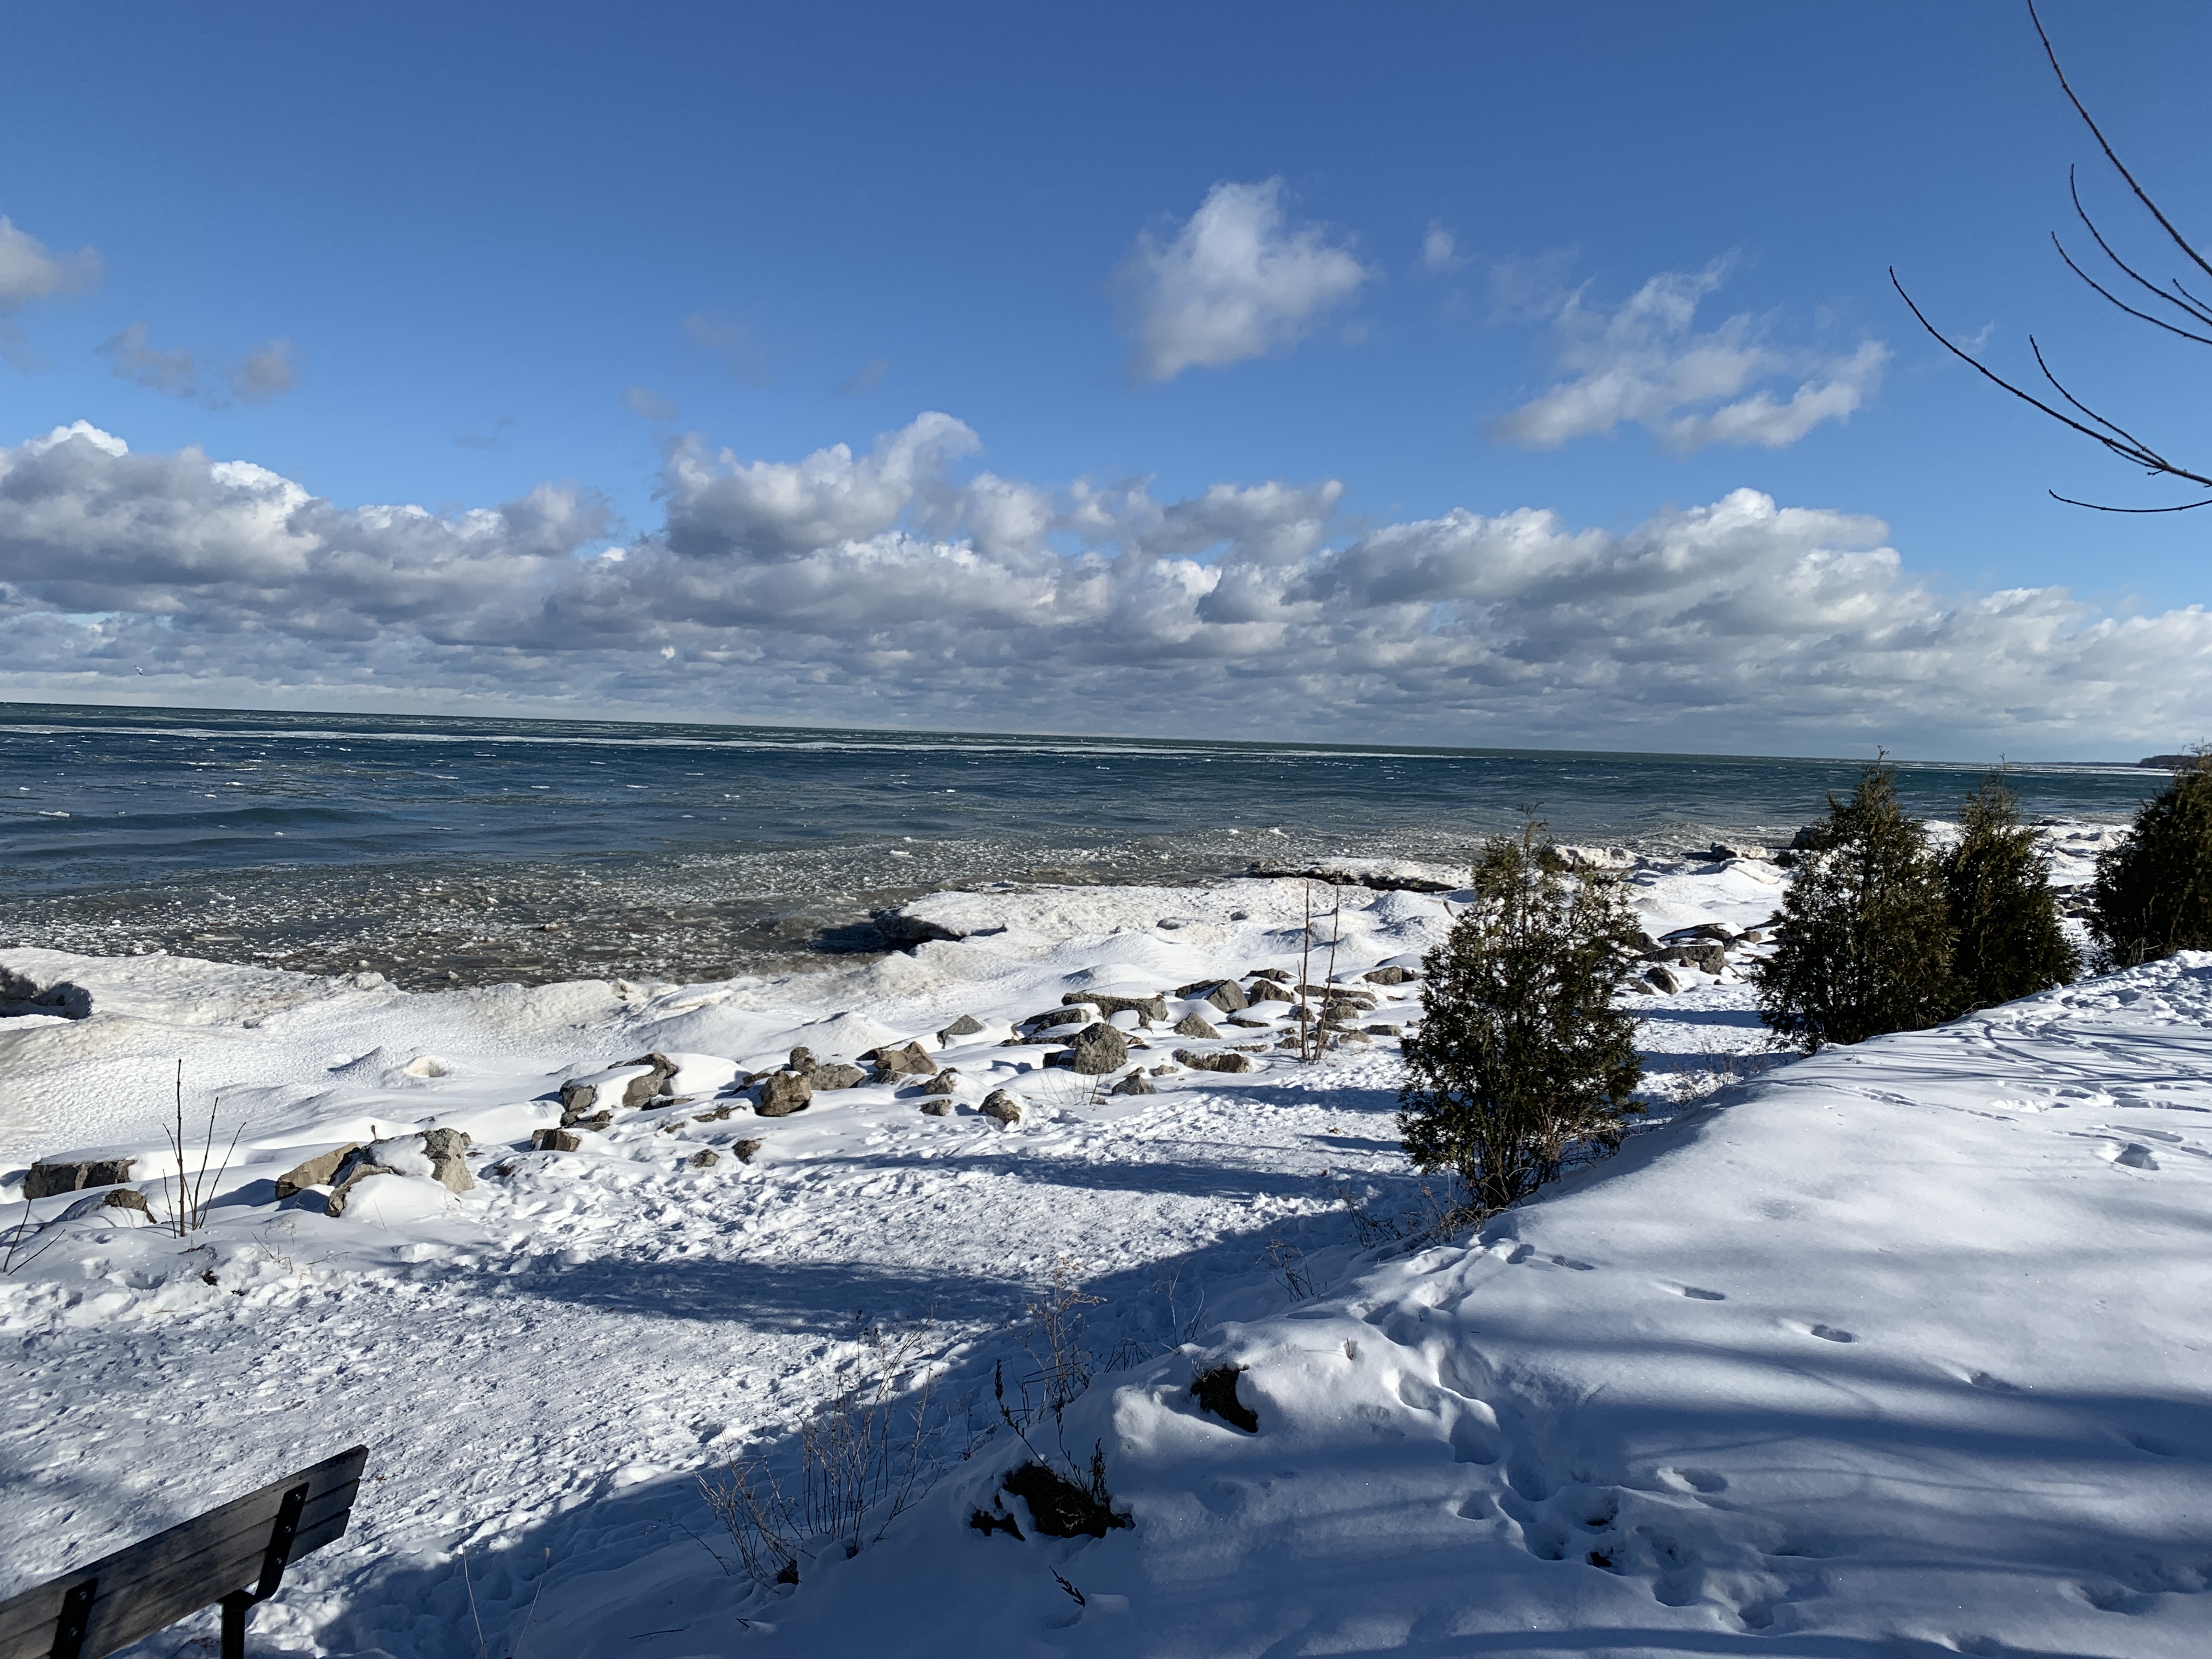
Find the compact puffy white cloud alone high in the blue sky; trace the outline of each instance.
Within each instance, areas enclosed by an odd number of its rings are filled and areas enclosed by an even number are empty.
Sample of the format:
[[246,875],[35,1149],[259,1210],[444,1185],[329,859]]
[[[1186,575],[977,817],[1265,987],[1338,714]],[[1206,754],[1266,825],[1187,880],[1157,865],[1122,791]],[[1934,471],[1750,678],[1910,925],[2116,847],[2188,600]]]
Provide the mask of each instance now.
[[1130,369],[1172,380],[1281,352],[1369,276],[1323,226],[1285,223],[1281,179],[1217,184],[1170,241],[1139,234],[1121,268]]

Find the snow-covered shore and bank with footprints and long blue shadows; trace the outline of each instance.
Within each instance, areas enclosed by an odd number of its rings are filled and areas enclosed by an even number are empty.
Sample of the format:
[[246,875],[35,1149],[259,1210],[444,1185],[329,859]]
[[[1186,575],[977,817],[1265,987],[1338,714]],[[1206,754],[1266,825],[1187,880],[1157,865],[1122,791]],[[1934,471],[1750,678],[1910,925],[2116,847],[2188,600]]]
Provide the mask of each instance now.
[[[2062,843],[2059,880],[2093,849]],[[1655,936],[1781,898],[1756,860],[1630,880]],[[403,995],[0,953],[0,993],[91,1000],[0,1020],[11,1234],[24,1168],[71,1150],[133,1155],[166,1214],[179,1060],[188,1121],[219,1095],[217,1161],[239,1135],[188,1241],[31,1206],[46,1225],[0,1276],[0,1595],[367,1442],[354,1531],[257,1613],[259,1650],[2212,1650],[2212,958],[1792,1064],[1734,969],[1677,969],[1690,989],[1637,998],[1652,1126],[1478,1239],[1409,1248],[1363,1243],[1343,1201],[1425,1206],[1394,1037],[1301,1064],[1285,1004],[1232,1026],[1175,995],[1321,980],[1305,902],[1292,880],[942,894],[909,907],[938,936],[911,956],[699,987]],[[1365,973],[1416,967],[1447,902],[1345,889],[1360,1024],[1418,1011],[1418,984]],[[1179,1048],[1254,1071],[1102,1095],[1009,1046],[1084,991],[1166,995],[1152,1029],[1115,1015],[1146,1071]],[[1172,1035],[1188,1013],[1219,1037]],[[980,1031],[940,1042],[960,1015]],[[914,1082],[779,1119],[732,1093],[794,1044],[907,1040],[958,1068],[949,1115]],[[562,1082],[648,1051],[681,1060],[681,1104],[526,1150]],[[975,1110],[995,1088],[1018,1124]],[[431,1126],[473,1137],[471,1190],[378,1175],[338,1217],[274,1194],[347,1141],[407,1166]],[[1099,1540],[1040,1537],[1000,1493],[1031,1449],[991,1376],[1031,1369],[1055,1270],[1099,1298],[1095,1380],[1029,1433],[1077,1473],[1097,1447],[1133,1522]],[[695,1475],[790,1467],[872,1376],[869,1329],[940,1371],[940,1475],[880,1542],[763,1590],[717,1564]],[[1192,1398],[1219,1365],[1245,1367],[1256,1433]]]

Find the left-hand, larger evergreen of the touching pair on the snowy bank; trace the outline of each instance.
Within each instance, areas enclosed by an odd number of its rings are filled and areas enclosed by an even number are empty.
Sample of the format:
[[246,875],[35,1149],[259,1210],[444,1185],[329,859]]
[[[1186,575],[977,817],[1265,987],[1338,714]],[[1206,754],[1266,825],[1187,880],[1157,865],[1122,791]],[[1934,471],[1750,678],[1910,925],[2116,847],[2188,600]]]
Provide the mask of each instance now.
[[1905,816],[1889,765],[1869,765],[1783,898],[1754,971],[1759,1018],[1801,1048],[1924,1031],[1958,1011],[1951,918],[1927,825]]

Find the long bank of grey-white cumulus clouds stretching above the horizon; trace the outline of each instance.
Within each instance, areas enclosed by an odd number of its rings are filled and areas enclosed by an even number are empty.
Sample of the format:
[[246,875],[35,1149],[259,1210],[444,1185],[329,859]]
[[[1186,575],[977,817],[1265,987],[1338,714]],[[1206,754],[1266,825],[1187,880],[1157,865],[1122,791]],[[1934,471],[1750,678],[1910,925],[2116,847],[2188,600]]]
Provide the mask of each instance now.
[[1334,480],[962,480],[975,442],[933,414],[865,453],[677,445],[666,524],[608,551],[575,484],[347,509],[80,422],[0,449],[0,688],[1767,752],[2086,752],[2212,717],[2201,606],[1940,593],[1878,520],[1752,489],[1628,531],[1352,533]]

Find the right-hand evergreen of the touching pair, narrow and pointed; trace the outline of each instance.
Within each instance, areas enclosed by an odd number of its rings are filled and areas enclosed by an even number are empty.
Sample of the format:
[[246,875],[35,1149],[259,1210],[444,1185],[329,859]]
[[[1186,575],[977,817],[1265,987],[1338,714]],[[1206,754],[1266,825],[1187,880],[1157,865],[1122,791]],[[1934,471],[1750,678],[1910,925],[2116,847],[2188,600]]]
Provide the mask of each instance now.
[[2051,858],[2020,823],[2020,796],[2004,772],[1966,796],[1958,845],[1942,856],[1942,889],[1960,1013],[2048,991],[2081,971],[2051,891]]

